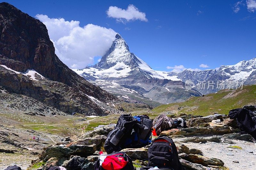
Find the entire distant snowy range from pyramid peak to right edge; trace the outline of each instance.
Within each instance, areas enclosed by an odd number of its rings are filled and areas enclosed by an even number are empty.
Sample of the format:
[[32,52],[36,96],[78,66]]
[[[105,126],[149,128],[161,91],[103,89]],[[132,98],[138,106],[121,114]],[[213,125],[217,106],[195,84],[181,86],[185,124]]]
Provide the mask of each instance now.
[[239,81],[244,85],[256,83],[256,58],[235,65],[221,66],[218,70],[164,72],[153,70],[146,62],[130,52],[120,34],[102,56],[99,63],[84,69],[73,69],[77,74],[126,102],[142,102],[156,106],[182,102],[191,96],[217,92],[216,88],[186,90],[186,80]]

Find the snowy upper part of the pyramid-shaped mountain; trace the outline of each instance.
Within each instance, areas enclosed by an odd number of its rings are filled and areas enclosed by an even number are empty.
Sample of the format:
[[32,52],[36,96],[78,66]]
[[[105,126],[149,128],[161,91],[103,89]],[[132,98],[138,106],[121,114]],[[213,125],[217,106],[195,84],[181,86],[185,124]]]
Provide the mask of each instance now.
[[[127,43],[120,34],[116,34],[116,39],[111,47],[102,56],[99,63],[81,70],[75,69],[79,75],[89,80],[95,78],[124,78],[127,76],[140,75],[141,77],[179,80],[175,77],[167,76],[168,73],[153,70],[146,62],[130,52]],[[140,78],[141,78],[140,77]]]

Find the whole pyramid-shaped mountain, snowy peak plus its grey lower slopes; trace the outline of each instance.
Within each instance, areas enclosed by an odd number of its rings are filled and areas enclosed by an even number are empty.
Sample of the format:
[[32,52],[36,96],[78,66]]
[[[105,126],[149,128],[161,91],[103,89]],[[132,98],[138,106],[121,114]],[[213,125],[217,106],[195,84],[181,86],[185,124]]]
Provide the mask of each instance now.
[[[73,70],[86,80],[129,101],[135,100],[154,105],[154,102],[181,102],[191,96],[200,95],[194,89],[186,90],[185,84],[179,79],[153,70],[130,52],[128,45],[119,34],[116,34],[116,40],[99,63],[84,69]],[[121,85],[132,92],[127,95],[125,91],[117,91],[114,85],[109,85],[111,83]]]

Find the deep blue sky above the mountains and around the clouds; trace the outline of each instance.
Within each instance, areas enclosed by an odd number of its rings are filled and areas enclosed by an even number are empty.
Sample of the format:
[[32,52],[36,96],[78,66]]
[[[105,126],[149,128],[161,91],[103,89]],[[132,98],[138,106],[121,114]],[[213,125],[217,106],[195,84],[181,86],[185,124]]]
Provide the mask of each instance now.
[[[249,1],[5,2],[32,17],[44,14],[80,21],[80,27],[93,24],[111,28],[121,34],[131,52],[153,69],[171,71],[166,67],[214,69],[256,57],[256,6],[254,0]],[[145,13],[147,21],[123,19],[123,23],[108,17],[110,6],[127,9],[129,4]],[[95,57],[93,63],[99,58]],[[79,67],[83,64],[87,63]],[[200,68],[200,64],[209,67]]]

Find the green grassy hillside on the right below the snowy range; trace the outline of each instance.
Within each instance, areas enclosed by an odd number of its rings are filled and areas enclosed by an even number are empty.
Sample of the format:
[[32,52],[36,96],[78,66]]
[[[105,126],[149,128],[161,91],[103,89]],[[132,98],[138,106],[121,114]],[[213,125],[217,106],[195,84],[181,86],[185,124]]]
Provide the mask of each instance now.
[[229,110],[256,105],[256,85],[246,85],[243,89],[221,90],[204,97],[191,97],[185,102],[171,103],[154,108],[153,113],[173,112],[195,115],[211,115],[213,113],[228,114]]

